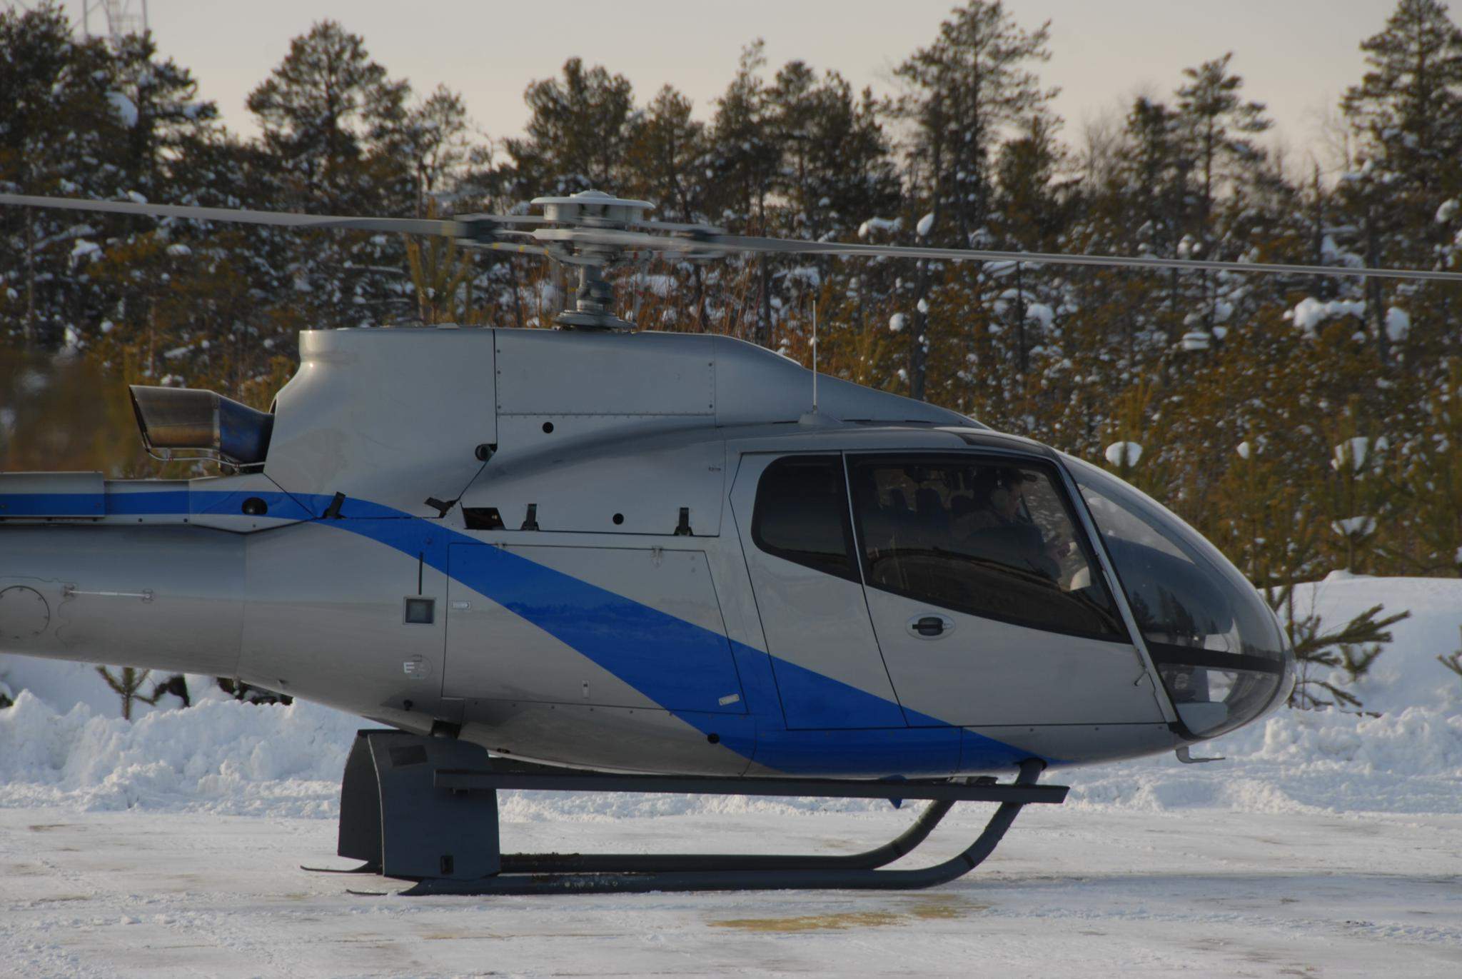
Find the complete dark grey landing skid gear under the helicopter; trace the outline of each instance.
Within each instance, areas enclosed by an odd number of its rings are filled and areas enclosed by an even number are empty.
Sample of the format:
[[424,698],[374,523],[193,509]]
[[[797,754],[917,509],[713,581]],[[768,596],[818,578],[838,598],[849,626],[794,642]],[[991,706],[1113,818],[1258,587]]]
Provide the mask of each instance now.
[[[620,776],[488,758],[465,742],[404,732],[360,732],[341,786],[339,855],[364,860],[332,874],[415,881],[421,894],[554,894],[725,890],[914,890],[978,866],[1028,803],[1060,803],[1064,786],[1038,786],[1044,762],[1026,759],[1013,783],[867,781]],[[497,789],[673,792],[863,799],[928,799],[908,830],[851,855],[500,853]],[[877,869],[920,846],[956,802],[999,802],[958,856],[911,871]],[[377,891],[351,891],[379,894]]]

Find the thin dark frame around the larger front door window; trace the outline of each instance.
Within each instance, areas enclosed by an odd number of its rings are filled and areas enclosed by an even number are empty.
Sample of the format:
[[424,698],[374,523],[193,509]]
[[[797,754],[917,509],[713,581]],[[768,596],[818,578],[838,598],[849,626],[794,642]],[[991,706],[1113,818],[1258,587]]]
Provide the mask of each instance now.
[[[873,584],[870,579],[870,568],[867,560],[867,549],[864,547],[864,528],[863,528],[863,514],[858,506],[857,490],[852,480],[852,467],[863,462],[898,462],[898,464],[920,464],[930,462],[939,464],[966,464],[966,465],[1019,465],[1025,468],[1032,468],[1039,471],[1050,483],[1051,492],[1056,495],[1057,502],[1061,505],[1061,511],[1066,515],[1067,522],[1072,528],[1072,541],[1080,549],[1082,556],[1086,560],[1086,566],[1091,572],[1092,587],[1099,587],[1101,594],[1107,599],[1107,616],[1111,620],[1111,632],[1088,632],[1082,629],[1064,629],[1053,626],[1048,622],[1037,622],[1025,616],[1009,616],[999,615],[985,609],[972,609],[968,606],[946,604],[943,601],[934,601],[925,594],[918,594],[905,588],[890,588],[880,584]],[[854,550],[858,559],[858,572],[863,577],[864,588],[876,588],[887,594],[895,594],[902,599],[909,599],[912,601],[921,601],[936,609],[946,609],[949,612],[958,612],[959,615],[974,616],[977,619],[990,619],[993,622],[1004,622],[1007,625],[1016,625],[1026,629],[1035,629],[1038,632],[1048,632],[1053,635],[1070,635],[1082,639],[1096,639],[1101,642],[1120,642],[1123,645],[1133,645],[1132,629],[1127,623],[1127,616],[1124,615],[1126,606],[1123,599],[1113,593],[1111,584],[1104,574],[1104,566],[1101,556],[1091,536],[1086,531],[1086,525],[1080,519],[1082,511],[1077,511],[1072,500],[1070,486],[1064,479],[1064,473],[1060,464],[1054,460],[1044,457],[1032,457],[1026,454],[1016,452],[1001,452],[999,449],[914,449],[914,451],[861,451],[861,452],[844,452],[844,486],[848,493],[848,509],[852,515],[852,533],[854,533]],[[1026,503],[1028,506],[1028,503]]]

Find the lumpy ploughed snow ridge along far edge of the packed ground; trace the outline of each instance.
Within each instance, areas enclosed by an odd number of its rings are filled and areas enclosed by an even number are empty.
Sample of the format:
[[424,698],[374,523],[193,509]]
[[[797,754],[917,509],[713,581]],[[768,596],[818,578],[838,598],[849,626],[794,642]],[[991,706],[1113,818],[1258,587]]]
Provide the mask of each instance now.
[[[22,692],[0,711],[0,806],[221,815],[339,814],[339,779],[360,719],[311,704],[212,701],[140,721],[57,714]],[[1200,746],[1216,765],[1171,755],[1054,773],[1069,805],[1137,811],[1462,814],[1462,714],[1414,707],[1367,717],[1281,711]],[[509,822],[868,812],[864,799],[763,799],[503,792]]]

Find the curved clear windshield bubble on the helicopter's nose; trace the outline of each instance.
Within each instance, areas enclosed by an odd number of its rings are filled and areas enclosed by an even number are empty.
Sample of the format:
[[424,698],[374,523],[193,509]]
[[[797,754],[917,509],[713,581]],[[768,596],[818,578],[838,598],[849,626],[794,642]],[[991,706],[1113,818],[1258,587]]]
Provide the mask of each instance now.
[[1288,691],[1294,657],[1253,585],[1151,496],[1064,458],[1189,732],[1212,738],[1268,710]]

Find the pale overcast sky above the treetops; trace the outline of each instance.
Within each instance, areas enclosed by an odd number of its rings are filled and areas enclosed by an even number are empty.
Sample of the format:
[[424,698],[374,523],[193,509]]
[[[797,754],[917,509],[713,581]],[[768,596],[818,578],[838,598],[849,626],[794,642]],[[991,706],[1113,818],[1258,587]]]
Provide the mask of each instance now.
[[[132,0],[139,9],[140,0]],[[700,117],[735,70],[740,48],[766,38],[770,66],[803,59],[854,85],[893,89],[892,69],[928,44],[952,0],[151,0],[159,48],[190,67],[230,127],[256,132],[249,91],[289,40],[325,18],[360,34],[392,76],[418,92],[459,91],[491,138],[520,132],[523,88],[570,56],[626,75],[640,101],[670,82]],[[1244,92],[1268,102],[1278,139],[1300,162],[1319,120],[1363,72],[1358,44],[1382,29],[1395,0],[1007,0],[1025,28],[1051,20],[1066,138],[1101,114],[1121,116],[1137,92],[1168,95],[1186,66],[1234,51]],[[82,0],[67,0],[79,18]],[[96,15],[94,15],[96,16]],[[94,22],[95,26],[95,22]]]

